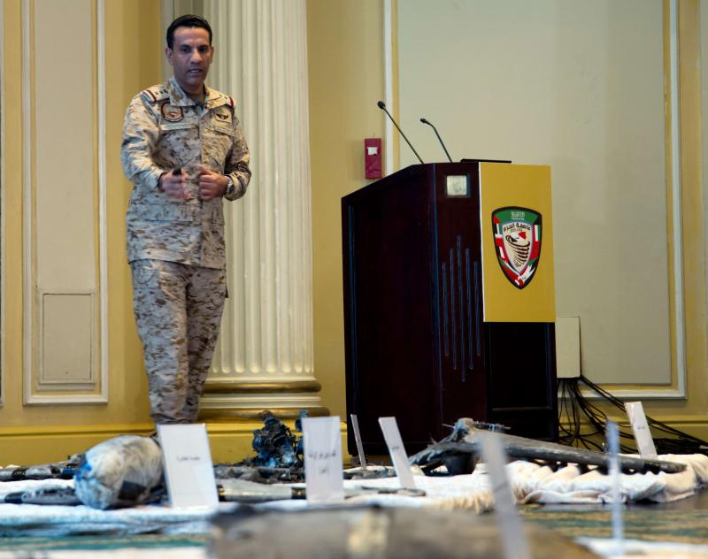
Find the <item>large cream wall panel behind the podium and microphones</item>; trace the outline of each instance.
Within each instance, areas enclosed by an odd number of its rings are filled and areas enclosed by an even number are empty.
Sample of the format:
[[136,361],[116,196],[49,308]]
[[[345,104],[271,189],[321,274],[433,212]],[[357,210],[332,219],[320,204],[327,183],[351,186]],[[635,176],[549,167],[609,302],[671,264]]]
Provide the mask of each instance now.
[[[664,3],[397,8],[400,119],[423,158],[444,154],[420,117],[453,158],[551,165],[558,316],[580,317],[583,373],[685,395],[671,335],[683,335],[669,252],[680,185],[667,182]],[[400,150],[402,166],[415,162]]]

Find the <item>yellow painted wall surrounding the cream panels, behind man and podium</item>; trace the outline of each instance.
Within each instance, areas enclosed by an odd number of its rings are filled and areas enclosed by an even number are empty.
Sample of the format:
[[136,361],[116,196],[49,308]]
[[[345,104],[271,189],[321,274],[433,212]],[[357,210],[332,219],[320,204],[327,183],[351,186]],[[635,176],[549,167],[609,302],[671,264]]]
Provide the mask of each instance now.
[[[394,3],[395,4],[395,3]],[[116,433],[148,431],[147,383],[142,370],[131,309],[131,287],[125,256],[124,214],[130,185],[119,166],[123,112],[131,96],[160,80],[161,42],[158,0],[106,2],[106,135],[107,225],[109,268],[109,403],[105,405],[24,406],[22,404],[22,165],[20,88],[20,2],[4,0],[3,65],[4,147],[4,339],[2,371],[4,406],[0,407],[0,465],[38,463],[80,451]],[[684,30],[698,26],[697,2],[687,6]],[[704,7],[704,4],[701,4]],[[383,137],[383,114],[375,103],[384,95],[382,0],[308,0],[310,129],[312,149],[312,244],[314,288],[315,374],[322,401],[343,417],[344,341],[342,311],[341,198],[366,183],[363,139]],[[696,13],[691,14],[691,10]],[[700,29],[708,44],[708,19],[700,13]],[[693,24],[691,22],[694,22]],[[704,47],[705,48],[705,47]],[[684,49],[685,50],[685,49]],[[708,71],[700,67],[704,84]],[[690,61],[686,72],[696,68]],[[690,76],[689,76],[690,78]],[[693,73],[694,80],[696,74]],[[700,76],[698,76],[700,78]],[[688,78],[687,78],[688,79]],[[708,101],[703,88],[704,106]],[[693,103],[696,130],[686,127],[682,140],[689,187],[684,203],[688,342],[688,401],[650,402],[650,414],[679,428],[708,437],[708,367],[704,309],[703,220],[699,88],[687,88],[684,106]],[[700,106],[698,107],[700,109]],[[432,118],[428,115],[429,118]],[[688,117],[687,117],[688,118]],[[692,134],[692,135],[691,135]],[[695,149],[698,149],[696,156]],[[384,146],[388,149],[388,146]],[[691,152],[691,149],[694,152]],[[705,153],[704,153],[705,155]],[[705,160],[706,157],[704,157]],[[696,179],[697,177],[697,179]],[[696,208],[697,206],[697,208]],[[239,459],[254,425],[210,427],[212,452],[219,459]],[[238,445],[234,440],[239,441]]]

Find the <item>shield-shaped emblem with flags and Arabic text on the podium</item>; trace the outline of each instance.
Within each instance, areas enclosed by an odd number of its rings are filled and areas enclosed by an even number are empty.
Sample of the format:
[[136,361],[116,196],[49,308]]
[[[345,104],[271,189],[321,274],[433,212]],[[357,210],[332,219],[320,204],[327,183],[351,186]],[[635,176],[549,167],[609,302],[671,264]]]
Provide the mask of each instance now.
[[541,214],[528,208],[492,211],[496,259],[512,286],[527,287],[541,257]]

